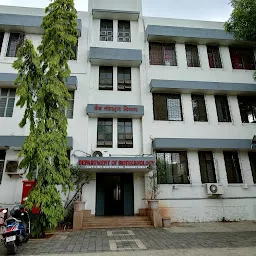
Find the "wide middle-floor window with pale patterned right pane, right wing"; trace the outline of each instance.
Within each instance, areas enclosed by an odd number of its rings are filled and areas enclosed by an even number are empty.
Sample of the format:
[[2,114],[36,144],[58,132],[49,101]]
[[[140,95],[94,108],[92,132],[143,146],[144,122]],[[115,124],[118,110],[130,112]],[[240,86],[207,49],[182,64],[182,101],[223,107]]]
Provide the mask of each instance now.
[[154,119],[183,121],[180,94],[153,94]]

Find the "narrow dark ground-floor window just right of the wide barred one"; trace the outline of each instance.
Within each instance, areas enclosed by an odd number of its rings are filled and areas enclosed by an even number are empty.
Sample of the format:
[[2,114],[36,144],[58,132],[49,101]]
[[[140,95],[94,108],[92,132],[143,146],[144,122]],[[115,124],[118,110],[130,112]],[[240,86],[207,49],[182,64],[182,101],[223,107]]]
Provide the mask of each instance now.
[[198,152],[202,183],[216,183],[212,152]]

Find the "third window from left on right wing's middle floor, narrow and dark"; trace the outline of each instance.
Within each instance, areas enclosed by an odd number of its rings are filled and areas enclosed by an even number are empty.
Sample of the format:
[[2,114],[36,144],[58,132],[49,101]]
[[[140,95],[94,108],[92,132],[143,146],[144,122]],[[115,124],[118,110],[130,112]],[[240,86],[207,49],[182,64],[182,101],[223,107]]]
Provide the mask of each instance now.
[[215,104],[219,122],[231,122],[231,116],[226,95],[215,95]]

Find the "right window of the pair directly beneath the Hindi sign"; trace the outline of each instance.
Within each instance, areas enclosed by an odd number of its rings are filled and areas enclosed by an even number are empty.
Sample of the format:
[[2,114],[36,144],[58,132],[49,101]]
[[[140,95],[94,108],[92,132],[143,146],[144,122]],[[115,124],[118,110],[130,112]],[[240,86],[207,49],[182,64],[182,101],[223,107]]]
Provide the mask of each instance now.
[[132,119],[118,119],[118,147],[133,147]]

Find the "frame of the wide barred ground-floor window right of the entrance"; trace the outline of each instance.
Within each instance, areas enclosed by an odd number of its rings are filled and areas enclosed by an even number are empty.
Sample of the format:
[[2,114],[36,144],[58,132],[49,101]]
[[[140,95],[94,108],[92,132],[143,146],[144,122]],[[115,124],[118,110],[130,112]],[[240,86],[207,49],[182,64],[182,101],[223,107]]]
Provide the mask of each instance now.
[[[167,169],[167,164],[168,162],[170,163],[171,162],[171,165],[174,165],[173,163],[177,163],[175,162],[174,160],[174,154],[179,154],[179,167],[176,166],[177,168],[177,173],[178,171],[181,171],[182,170],[182,166],[184,165],[185,166],[185,170],[183,172],[183,174],[181,173],[181,176],[180,178],[183,179],[183,182],[179,182],[178,179],[176,178],[175,179],[175,176],[178,176],[178,175],[174,175],[174,168],[171,168],[171,169]],[[165,181],[163,180],[160,180],[162,179],[163,177],[161,177],[159,175],[159,165],[160,165],[160,155],[163,155],[163,158],[162,159],[164,161],[164,174],[165,177]],[[168,159],[167,159],[167,156]],[[184,161],[182,161],[181,159],[183,158]],[[167,160],[168,162],[167,162]],[[163,163],[162,161],[162,163]],[[156,152],[156,164],[157,164],[157,183],[158,184],[184,184],[184,185],[189,185],[190,184],[190,173],[189,173],[189,164],[188,164],[188,153],[187,151],[168,151],[168,152]],[[171,173],[168,173],[168,172],[171,172]],[[186,180],[184,179],[184,177],[187,177]]]

